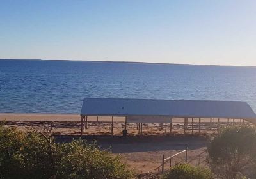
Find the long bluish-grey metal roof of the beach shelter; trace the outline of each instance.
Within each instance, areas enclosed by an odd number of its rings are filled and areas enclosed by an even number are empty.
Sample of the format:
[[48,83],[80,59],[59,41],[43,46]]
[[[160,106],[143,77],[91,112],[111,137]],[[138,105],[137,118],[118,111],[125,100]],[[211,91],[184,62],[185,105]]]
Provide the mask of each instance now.
[[256,120],[256,114],[250,105],[247,102],[239,101],[84,98],[81,115],[136,115]]

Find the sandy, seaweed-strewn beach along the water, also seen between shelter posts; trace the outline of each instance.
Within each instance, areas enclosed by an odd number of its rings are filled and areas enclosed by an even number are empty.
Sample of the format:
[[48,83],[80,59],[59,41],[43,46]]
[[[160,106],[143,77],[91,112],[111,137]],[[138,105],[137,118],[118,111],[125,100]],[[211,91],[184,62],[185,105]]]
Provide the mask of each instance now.
[[[0,113],[0,120],[5,120],[10,126],[20,129],[35,129],[42,127],[51,127],[52,134],[56,135],[79,135],[81,132],[81,120],[79,114],[10,114]],[[232,121],[230,121],[231,124]],[[221,119],[220,123],[227,123],[227,120]],[[236,123],[239,121],[236,120]],[[212,134],[217,132],[217,120],[212,120],[210,130],[209,119],[201,119],[201,132]],[[113,134],[120,136],[125,128],[124,117],[114,117]],[[192,134],[192,123],[188,121],[187,134]],[[127,123],[129,135],[138,135],[138,125],[136,123]],[[88,128],[84,134],[90,135],[108,135],[111,133],[111,117],[106,116],[88,116]],[[198,119],[193,121],[193,134],[198,133]],[[144,135],[170,134],[170,123],[143,123]],[[173,118],[172,134],[184,134],[184,118]]]

